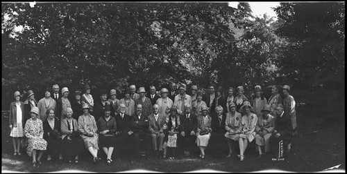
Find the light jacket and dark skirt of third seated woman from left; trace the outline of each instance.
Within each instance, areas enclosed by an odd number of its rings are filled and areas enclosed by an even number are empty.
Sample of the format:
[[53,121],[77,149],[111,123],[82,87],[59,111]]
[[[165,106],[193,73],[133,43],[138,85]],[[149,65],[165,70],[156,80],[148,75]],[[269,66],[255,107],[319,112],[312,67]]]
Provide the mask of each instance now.
[[[85,143],[80,135],[73,136],[67,131],[73,130],[78,132],[78,122],[76,119],[72,119],[72,127],[67,119],[62,119],[61,131],[62,131],[62,155],[63,157],[71,157],[80,155],[85,151]],[[74,133],[73,133],[74,134]]]

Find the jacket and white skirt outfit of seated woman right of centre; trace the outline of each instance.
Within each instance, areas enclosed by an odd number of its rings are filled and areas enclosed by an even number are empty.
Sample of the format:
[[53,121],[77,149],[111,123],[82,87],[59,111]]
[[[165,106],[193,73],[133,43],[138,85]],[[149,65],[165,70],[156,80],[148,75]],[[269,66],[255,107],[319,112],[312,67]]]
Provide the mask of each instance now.
[[[210,115],[198,116],[198,132],[196,133],[197,135],[196,144],[198,146],[202,146],[202,147],[208,146],[208,142],[210,141],[211,132],[212,132],[211,122],[212,122],[212,118],[210,117]],[[202,131],[208,131],[208,134],[200,135]]]

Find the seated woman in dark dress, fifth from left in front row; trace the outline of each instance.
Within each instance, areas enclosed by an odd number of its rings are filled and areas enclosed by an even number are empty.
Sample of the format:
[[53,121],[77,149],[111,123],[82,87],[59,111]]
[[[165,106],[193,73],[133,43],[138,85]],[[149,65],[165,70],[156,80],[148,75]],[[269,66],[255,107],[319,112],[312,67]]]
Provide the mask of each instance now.
[[105,153],[107,164],[112,162],[112,153],[116,145],[117,124],[115,117],[111,116],[111,105],[105,105],[105,115],[96,123],[99,130],[99,142]]

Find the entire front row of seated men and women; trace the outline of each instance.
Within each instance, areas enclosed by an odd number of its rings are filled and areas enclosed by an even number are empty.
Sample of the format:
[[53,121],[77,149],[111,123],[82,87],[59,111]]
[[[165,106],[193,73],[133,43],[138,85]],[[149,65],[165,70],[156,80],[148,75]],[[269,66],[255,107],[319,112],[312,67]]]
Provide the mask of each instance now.
[[[59,160],[78,163],[78,156],[85,150],[92,155],[95,163],[101,160],[98,157],[101,148],[106,156],[106,162],[111,164],[112,153],[116,149],[121,157],[133,162],[133,157],[139,156],[140,146],[144,146],[147,154],[153,151],[155,159],[161,157],[174,158],[176,148],[183,151],[188,157],[194,148],[198,146],[201,159],[205,158],[205,148],[210,139],[226,139],[228,155],[236,155],[235,144],[239,145],[240,161],[244,161],[244,153],[248,143],[255,140],[255,145],[261,158],[264,153],[277,151],[278,142],[283,140],[285,144],[291,141],[291,120],[284,115],[283,106],[279,104],[276,115],[271,115],[269,105],[262,109],[262,115],[258,117],[253,113],[253,107],[249,101],[244,101],[239,111],[233,102],[229,104],[229,112],[223,115],[223,107],[215,108],[216,115],[209,115],[207,106],[201,110],[192,112],[192,106],[185,106],[184,113],[178,114],[173,106],[169,110],[169,116],[159,113],[158,104],[153,105],[151,115],[142,115],[142,105],[136,106],[133,116],[125,114],[126,106],[119,105],[119,113],[111,115],[110,105],[105,106],[105,114],[95,120],[90,115],[90,107],[83,106],[83,115],[78,120],[72,117],[73,110],[66,109],[66,117],[58,122],[54,117],[54,110],[46,111],[48,119],[42,123],[37,118],[37,107],[31,109],[31,119],[28,119],[24,128],[24,134],[28,139],[26,148],[29,156],[33,157],[33,166],[42,164],[41,157],[46,151],[47,160],[51,156],[58,155]],[[214,117],[214,118],[212,118]],[[216,120],[216,121],[213,121]],[[225,131],[218,131],[217,127],[224,127]],[[38,153],[38,157],[36,155]]]

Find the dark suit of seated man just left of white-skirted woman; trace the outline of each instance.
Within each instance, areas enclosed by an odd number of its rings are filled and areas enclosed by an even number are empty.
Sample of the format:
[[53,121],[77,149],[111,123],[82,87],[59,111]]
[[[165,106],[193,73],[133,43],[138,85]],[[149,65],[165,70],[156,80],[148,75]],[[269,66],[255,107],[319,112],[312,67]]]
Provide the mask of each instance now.
[[193,151],[196,149],[196,135],[190,135],[192,131],[196,133],[198,128],[198,119],[194,113],[190,113],[189,118],[187,115],[180,117],[180,131],[185,132],[185,137],[178,136],[178,144],[183,151]]

